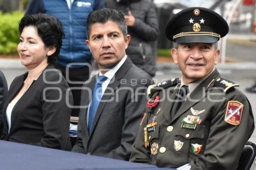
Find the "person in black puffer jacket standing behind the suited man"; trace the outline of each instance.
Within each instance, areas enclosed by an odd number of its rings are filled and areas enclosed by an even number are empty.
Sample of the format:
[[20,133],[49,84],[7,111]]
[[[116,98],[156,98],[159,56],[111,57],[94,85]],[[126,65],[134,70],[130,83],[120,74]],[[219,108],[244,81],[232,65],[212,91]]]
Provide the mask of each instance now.
[[126,54],[132,62],[152,77],[155,76],[155,57],[152,41],[158,38],[158,19],[151,0],[105,0],[106,8],[125,15],[131,41]]

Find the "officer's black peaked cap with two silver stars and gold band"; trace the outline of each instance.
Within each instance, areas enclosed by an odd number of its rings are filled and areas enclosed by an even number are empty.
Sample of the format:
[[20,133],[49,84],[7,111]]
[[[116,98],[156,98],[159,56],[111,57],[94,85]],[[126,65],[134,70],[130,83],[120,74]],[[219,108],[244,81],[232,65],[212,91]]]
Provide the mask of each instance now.
[[223,17],[201,7],[180,11],[165,26],[165,35],[176,43],[215,43],[228,31],[229,26]]

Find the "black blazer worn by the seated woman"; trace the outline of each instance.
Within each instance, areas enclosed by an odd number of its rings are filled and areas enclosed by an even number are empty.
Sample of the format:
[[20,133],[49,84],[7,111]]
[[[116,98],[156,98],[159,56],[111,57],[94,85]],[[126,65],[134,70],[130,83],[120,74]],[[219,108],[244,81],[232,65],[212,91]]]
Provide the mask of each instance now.
[[[15,104],[8,133],[6,109],[17,95],[27,77],[27,72],[11,83],[8,99],[3,109],[4,130],[2,139],[42,147],[70,150],[69,120],[73,97],[64,77],[49,64],[38,79]],[[67,93],[67,95],[66,95]]]

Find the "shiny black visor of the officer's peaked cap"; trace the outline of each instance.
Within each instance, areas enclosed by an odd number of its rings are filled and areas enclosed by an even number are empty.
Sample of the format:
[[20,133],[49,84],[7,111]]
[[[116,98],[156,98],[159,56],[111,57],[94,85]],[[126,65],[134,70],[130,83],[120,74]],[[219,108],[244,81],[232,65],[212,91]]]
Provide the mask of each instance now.
[[184,36],[176,38],[176,43],[215,43],[219,39],[207,35]]

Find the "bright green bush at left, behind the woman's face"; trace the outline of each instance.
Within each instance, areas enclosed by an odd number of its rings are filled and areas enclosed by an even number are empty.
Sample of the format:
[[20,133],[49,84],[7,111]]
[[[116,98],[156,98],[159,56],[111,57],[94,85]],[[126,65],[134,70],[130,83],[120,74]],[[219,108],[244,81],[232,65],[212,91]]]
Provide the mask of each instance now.
[[18,26],[23,15],[19,11],[5,14],[0,12],[0,54],[17,54],[19,42]]

